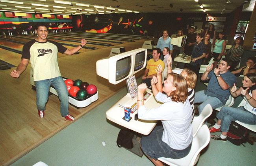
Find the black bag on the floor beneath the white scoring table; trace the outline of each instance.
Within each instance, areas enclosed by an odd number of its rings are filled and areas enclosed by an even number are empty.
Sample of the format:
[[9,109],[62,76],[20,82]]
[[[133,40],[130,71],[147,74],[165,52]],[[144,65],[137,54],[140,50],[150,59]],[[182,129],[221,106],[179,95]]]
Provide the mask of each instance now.
[[132,143],[132,138],[134,137],[134,133],[129,130],[121,129],[117,136],[117,146],[119,148],[124,147],[127,149],[132,149],[134,144]]

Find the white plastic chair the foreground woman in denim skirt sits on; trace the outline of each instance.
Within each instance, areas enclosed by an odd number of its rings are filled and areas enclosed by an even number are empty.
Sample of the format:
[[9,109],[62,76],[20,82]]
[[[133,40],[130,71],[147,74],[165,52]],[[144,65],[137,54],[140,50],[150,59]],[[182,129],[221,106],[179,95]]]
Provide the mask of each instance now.
[[197,132],[197,135],[193,138],[192,147],[187,156],[181,159],[160,157],[158,160],[171,166],[194,166],[197,164],[200,151],[204,149],[209,144],[209,142],[210,131],[206,124],[204,124]]

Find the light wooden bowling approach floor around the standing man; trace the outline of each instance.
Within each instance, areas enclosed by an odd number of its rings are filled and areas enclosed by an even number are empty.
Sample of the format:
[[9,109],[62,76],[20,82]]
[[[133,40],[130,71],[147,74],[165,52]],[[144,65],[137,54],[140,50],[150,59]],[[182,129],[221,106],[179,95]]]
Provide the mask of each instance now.
[[[126,51],[139,48],[144,41],[121,44]],[[4,50],[0,49],[0,58]],[[92,108],[98,106],[109,97],[126,86],[123,81],[120,84],[112,85],[108,80],[96,75],[96,61],[107,57],[111,47],[96,49],[80,53],[80,55],[66,56],[58,59],[59,68],[63,77],[72,80],[81,79],[95,84],[98,89],[99,99],[85,108],[77,109],[69,106],[69,112],[76,119],[82,117]],[[93,57],[92,57],[93,53]],[[7,54],[7,53],[5,53]],[[17,60],[5,61],[17,65]],[[15,57],[15,56],[13,56]],[[13,58],[9,57],[9,58]],[[16,67],[13,67],[14,69]],[[0,165],[10,165],[45,140],[58,133],[72,122],[64,121],[59,113],[59,99],[50,95],[46,105],[45,117],[40,119],[36,109],[35,91],[30,85],[30,64],[22,73],[20,78],[12,78],[9,73],[12,69],[0,70]],[[137,73],[142,75],[144,71]],[[102,115],[105,116],[105,115]]]

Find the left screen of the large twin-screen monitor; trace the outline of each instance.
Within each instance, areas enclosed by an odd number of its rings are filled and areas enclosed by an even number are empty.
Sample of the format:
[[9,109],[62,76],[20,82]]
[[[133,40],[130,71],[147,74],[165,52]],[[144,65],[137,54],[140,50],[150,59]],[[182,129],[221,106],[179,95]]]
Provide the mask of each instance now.
[[[115,80],[121,80],[129,75],[131,70],[131,57],[119,59],[116,64]],[[110,64],[111,65],[111,64]]]

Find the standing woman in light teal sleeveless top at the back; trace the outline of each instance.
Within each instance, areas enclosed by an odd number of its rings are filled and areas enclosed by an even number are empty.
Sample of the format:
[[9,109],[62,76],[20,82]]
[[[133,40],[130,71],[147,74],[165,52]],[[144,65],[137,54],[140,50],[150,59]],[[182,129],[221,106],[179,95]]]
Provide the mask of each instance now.
[[217,68],[217,64],[223,55],[225,48],[226,48],[226,40],[224,40],[225,33],[219,33],[219,39],[215,41],[215,47],[213,49],[213,53],[211,56],[214,58],[214,68]]

